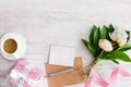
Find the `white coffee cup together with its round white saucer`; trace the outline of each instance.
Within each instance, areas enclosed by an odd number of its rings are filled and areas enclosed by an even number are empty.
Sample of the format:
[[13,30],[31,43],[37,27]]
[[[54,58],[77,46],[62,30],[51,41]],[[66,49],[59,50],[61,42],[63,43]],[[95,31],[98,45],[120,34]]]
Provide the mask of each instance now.
[[8,60],[22,58],[25,50],[25,38],[17,33],[5,34],[0,40],[0,53]]

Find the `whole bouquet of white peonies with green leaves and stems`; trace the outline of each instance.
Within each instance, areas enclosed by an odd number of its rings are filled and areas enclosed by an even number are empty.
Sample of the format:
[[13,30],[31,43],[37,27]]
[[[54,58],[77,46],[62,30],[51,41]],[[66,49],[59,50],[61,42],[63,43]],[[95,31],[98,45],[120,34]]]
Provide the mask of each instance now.
[[[82,42],[95,58],[92,67],[100,60],[110,60],[117,64],[119,64],[118,60],[131,62],[131,59],[124,53],[131,49],[131,45],[128,44],[129,38],[129,30],[115,29],[110,24],[109,26],[104,25],[100,32],[100,28],[94,25],[90,34],[90,41],[82,39]],[[86,74],[86,78],[91,70]]]

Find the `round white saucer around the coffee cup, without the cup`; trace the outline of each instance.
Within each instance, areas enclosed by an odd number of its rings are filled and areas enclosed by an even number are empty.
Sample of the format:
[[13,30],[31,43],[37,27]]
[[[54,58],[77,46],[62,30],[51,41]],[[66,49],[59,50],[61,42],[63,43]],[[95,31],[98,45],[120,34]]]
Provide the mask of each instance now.
[[[12,54],[8,54],[8,53],[4,53],[2,51],[3,41],[7,39],[10,39],[10,38],[14,39],[17,42],[17,49]],[[25,51],[26,51],[26,41],[22,35],[20,35],[17,33],[8,33],[1,37],[1,39],[0,39],[0,53],[4,59],[17,60],[24,55]]]

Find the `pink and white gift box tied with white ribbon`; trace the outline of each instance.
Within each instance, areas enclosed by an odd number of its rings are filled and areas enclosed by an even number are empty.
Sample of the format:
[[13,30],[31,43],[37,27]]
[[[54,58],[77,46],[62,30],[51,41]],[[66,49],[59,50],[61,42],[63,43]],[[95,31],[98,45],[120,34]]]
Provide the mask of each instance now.
[[17,87],[36,87],[44,72],[25,60],[19,60],[10,73],[9,82]]

